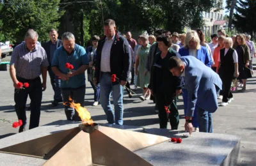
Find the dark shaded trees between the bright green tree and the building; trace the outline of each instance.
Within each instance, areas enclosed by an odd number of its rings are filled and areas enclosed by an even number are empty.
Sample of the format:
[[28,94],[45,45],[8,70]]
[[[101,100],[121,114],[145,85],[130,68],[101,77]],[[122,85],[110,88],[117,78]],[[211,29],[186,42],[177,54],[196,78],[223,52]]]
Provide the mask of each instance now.
[[[102,22],[106,19],[115,20],[116,28],[122,33],[147,31],[148,34],[152,34],[156,29],[168,29],[181,33],[185,27],[193,29],[202,27],[204,25],[202,11],[209,11],[213,7],[220,6],[220,3],[214,3],[215,0],[104,0],[102,3],[101,1],[89,3],[81,0],[61,1],[61,3],[70,2],[72,4],[68,6],[61,4],[60,7],[71,13],[76,42],[79,44],[84,43],[81,37],[83,33],[101,36],[103,34]],[[81,11],[84,13],[88,30],[81,28],[83,27],[81,26],[83,23]]]

